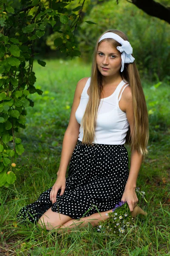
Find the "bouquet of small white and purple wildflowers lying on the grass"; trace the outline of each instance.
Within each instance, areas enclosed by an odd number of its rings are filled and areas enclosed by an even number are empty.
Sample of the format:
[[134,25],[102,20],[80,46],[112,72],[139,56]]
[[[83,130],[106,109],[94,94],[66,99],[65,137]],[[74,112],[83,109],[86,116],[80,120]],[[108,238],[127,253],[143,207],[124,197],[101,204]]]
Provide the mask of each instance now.
[[[139,188],[136,188],[136,192],[144,198],[144,191],[140,191]],[[147,202],[145,198],[144,201]],[[106,213],[106,215],[108,215],[108,219],[99,222],[100,225],[97,229],[99,232],[121,236],[123,233],[127,233],[129,228],[136,227],[134,218],[130,214],[130,209],[126,201],[121,201],[119,204],[116,204],[112,212]]]

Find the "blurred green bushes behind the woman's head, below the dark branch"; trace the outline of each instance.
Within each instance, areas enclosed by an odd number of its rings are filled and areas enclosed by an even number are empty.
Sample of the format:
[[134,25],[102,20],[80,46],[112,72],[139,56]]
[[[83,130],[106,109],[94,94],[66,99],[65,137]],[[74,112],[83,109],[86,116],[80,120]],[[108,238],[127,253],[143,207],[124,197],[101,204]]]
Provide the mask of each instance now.
[[134,58],[143,79],[160,80],[169,74],[170,29],[169,24],[151,17],[127,1],[115,0],[96,5],[86,20],[97,25],[81,24],[79,47],[82,57],[91,61],[99,36],[108,29],[119,29],[127,35],[133,47]]

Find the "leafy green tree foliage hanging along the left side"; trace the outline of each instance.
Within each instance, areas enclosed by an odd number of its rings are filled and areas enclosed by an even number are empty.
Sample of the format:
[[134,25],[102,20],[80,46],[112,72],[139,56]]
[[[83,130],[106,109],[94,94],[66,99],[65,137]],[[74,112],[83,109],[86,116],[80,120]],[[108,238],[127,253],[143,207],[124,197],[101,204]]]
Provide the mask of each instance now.
[[[35,40],[42,38],[51,26],[58,33],[55,47],[71,57],[80,55],[75,32],[83,4],[68,10],[69,2],[0,0],[0,186],[9,186],[16,179],[13,170],[20,167],[13,167],[11,162],[23,154],[24,147],[15,132],[26,127],[26,108],[34,106],[30,94],[42,95],[42,90],[34,86],[33,61],[38,55]],[[37,61],[45,67],[45,61]]]

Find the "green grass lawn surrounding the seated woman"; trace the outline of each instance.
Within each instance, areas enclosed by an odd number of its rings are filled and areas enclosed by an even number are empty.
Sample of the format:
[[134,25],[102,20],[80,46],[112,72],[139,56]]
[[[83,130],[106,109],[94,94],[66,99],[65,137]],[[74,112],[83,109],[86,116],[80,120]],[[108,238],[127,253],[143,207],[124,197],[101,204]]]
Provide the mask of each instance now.
[[17,166],[22,166],[16,171],[17,181],[8,189],[0,190],[0,255],[170,255],[170,87],[165,83],[156,90],[151,88],[153,84],[142,83],[150,113],[150,142],[137,186],[145,191],[149,203],[142,202],[141,207],[148,215],[138,215],[136,228],[115,240],[113,235],[98,233],[90,224],[69,234],[57,235],[34,225],[16,223],[20,207],[35,201],[57,178],[75,87],[81,78],[90,76],[91,67],[78,59],[51,60],[46,67],[35,62],[34,72],[36,88],[43,90],[43,94],[34,93],[29,97],[34,101],[34,108],[27,108],[26,129],[16,134],[25,147],[16,161]]

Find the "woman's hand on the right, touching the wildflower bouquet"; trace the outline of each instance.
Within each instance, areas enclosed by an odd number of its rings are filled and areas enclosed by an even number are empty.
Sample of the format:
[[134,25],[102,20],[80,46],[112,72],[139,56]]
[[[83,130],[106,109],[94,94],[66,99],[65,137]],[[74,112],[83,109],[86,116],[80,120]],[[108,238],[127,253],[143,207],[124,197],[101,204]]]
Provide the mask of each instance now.
[[129,206],[130,212],[132,212],[139,201],[135,192],[135,188],[134,189],[125,188],[121,201],[124,201],[124,202],[126,201]]

